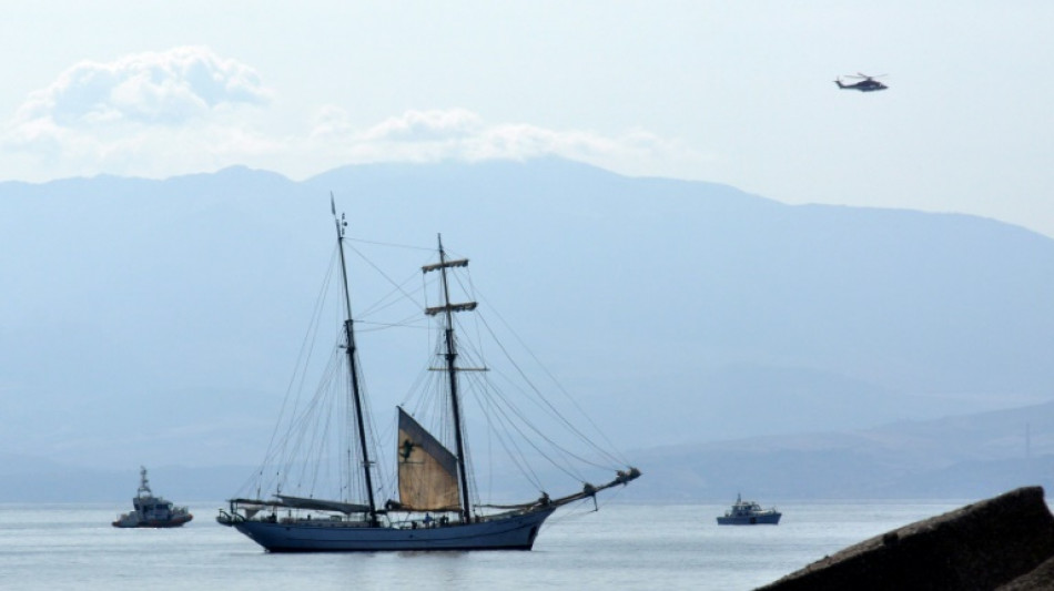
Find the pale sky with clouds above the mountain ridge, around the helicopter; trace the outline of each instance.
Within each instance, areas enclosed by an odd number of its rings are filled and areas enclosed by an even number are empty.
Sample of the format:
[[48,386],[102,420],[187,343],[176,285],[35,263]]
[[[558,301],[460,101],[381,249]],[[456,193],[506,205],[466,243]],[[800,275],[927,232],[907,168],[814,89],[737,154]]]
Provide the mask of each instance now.
[[[1054,2],[12,0],[0,181],[558,155],[1054,236]],[[835,77],[886,74],[840,91]]]

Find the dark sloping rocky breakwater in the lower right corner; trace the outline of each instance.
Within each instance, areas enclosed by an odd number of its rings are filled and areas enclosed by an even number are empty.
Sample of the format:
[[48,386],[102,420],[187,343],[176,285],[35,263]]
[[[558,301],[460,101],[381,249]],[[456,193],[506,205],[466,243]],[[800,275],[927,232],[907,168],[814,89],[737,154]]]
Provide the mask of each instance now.
[[847,589],[1054,589],[1054,516],[1043,489],[1020,488],[916,521],[761,588]]

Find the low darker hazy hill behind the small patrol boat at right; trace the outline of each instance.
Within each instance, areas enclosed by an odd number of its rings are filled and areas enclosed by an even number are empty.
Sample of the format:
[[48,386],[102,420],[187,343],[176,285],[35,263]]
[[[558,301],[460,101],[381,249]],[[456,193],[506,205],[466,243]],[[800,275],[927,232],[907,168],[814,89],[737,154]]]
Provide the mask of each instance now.
[[[1040,432],[1042,436],[1036,436]],[[642,498],[983,498],[1054,486],[1054,404],[850,432],[640,450]],[[731,491],[731,492],[730,492]]]

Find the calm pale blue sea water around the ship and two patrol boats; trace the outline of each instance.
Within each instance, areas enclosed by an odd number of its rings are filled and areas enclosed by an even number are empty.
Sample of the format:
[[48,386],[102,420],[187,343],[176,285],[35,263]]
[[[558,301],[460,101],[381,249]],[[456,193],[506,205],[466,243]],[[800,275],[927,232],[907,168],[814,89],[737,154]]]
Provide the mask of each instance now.
[[0,589],[747,590],[847,546],[966,501],[801,502],[779,526],[717,526],[718,505],[584,502],[530,552],[272,554],[191,505],[176,529],[118,529],[118,505],[0,505]]

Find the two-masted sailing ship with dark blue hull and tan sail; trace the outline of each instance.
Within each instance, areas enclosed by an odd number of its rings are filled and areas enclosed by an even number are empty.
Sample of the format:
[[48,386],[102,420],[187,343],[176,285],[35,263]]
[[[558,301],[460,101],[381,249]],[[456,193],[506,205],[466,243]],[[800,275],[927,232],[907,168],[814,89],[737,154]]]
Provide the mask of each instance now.
[[[331,210],[336,224],[336,251],[339,261],[339,278],[344,316],[337,330],[337,347],[334,357],[339,359],[339,371],[326,371],[331,380],[343,381],[348,401],[345,404],[343,425],[352,444],[341,448],[343,460],[339,491],[328,498],[314,493],[291,495],[283,486],[297,478],[290,477],[300,470],[300,480],[314,481],[317,469],[307,469],[306,463],[293,460],[275,460],[276,471],[261,469],[254,497],[229,500],[229,507],[220,510],[217,521],[230,526],[271,552],[315,551],[386,551],[386,550],[529,550],[546,519],[558,508],[582,500],[592,500],[600,491],[624,486],[640,476],[640,470],[627,463],[616,465],[615,478],[601,485],[579,480],[580,489],[561,497],[550,497],[544,490],[533,500],[518,503],[485,505],[478,501],[477,489],[470,482],[468,438],[462,399],[463,374],[485,373],[487,368],[465,367],[458,363],[460,344],[455,335],[455,315],[476,310],[476,302],[455,303],[450,299],[452,275],[468,266],[467,258],[450,258],[438,237],[438,261],[420,267],[424,276],[434,277],[433,285],[439,292],[436,306],[425,306],[425,317],[438,320],[436,333],[438,364],[427,368],[442,376],[435,381],[442,386],[438,403],[433,407],[442,410],[447,421],[439,429],[442,437],[426,428],[402,406],[397,407],[395,459],[397,465],[398,500],[378,501],[375,482],[375,455],[371,451],[369,434],[374,432],[372,415],[367,412],[367,397],[362,381],[356,348],[356,322],[352,316],[352,298],[348,286],[348,266],[345,251],[344,216],[336,216],[336,206],[331,195]],[[474,358],[475,360],[475,358]],[[436,365],[437,367],[432,367]],[[332,366],[327,366],[332,367]],[[339,377],[334,377],[339,374]],[[474,376],[475,377],[475,376]],[[323,389],[320,388],[318,391]],[[313,409],[325,406],[318,400],[306,405]],[[513,411],[518,414],[518,411]],[[330,429],[332,412],[321,421],[317,431]],[[291,424],[312,422],[294,418]],[[287,448],[315,447],[314,436],[282,444]],[[500,437],[500,436],[499,436]],[[538,449],[538,448],[536,448]],[[271,454],[268,452],[268,456]],[[614,458],[614,456],[610,456]],[[303,475],[311,475],[303,476]],[[271,498],[262,498],[263,479],[274,477]],[[358,498],[352,489],[358,486]],[[476,498],[474,498],[476,497]]]

